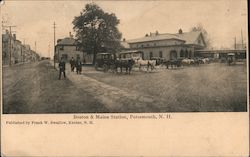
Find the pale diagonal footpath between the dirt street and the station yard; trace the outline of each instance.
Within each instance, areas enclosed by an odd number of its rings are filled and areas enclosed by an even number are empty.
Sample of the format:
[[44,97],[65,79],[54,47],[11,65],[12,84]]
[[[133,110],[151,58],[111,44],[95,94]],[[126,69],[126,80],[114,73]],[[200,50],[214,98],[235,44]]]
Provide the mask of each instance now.
[[[56,64],[56,68],[58,69],[58,64]],[[91,70],[89,68],[92,67],[83,66],[82,74],[77,75],[76,72],[71,72],[70,65],[66,64],[66,77],[78,89],[88,92],[93,98],[104,104],[110,112],[143,112],[148,111],[149,108],[152,110],[152,104],[154,104],[152,96],[141,95],[135,91],[125,91],[90,78],[84,75],[85,70]]]

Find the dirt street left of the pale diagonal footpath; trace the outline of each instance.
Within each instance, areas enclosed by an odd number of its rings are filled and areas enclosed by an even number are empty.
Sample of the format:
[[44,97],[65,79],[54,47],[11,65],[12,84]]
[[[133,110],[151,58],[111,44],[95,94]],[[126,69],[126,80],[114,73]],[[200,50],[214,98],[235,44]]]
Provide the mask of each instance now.
[[3,69],[3,113],[107,112],[69,79],[58,80],[49,61]]

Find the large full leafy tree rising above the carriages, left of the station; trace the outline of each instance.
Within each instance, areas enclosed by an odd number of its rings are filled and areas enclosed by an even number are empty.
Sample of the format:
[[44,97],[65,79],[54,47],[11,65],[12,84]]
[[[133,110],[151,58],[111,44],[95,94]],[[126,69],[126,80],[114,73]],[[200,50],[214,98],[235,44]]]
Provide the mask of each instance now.
[[72,23],[79,47],[94,55],[93,64],[97,53],[115,53],[120,50],[122,34],[117,28],[120,21],[115,14],[106,13],[98,5],[90,3],[85,5]]

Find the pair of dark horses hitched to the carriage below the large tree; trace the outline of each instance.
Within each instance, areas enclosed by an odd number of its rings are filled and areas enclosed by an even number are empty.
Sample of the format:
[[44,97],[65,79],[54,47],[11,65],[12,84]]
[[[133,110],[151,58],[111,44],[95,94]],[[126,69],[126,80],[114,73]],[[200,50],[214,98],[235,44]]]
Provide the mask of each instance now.
[[122,69],[125,68],[126,73],[130,74],[134,64],[135,64],[135,61],[133,59],[116,60],[115,65],[114,65],[114,71],[117,73],[118,68],[120,68],[120,71],[122,73]]

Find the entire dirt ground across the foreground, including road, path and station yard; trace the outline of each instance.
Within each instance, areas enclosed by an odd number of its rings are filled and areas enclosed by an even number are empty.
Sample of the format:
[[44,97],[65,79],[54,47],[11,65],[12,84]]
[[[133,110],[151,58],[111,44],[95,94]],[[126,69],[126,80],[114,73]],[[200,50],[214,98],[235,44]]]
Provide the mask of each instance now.
[[131,75],[69,69],[58,80],[49,60],[3,68],[4,113],[246,111],[244,65],[135,68]]

